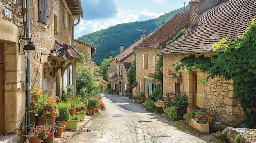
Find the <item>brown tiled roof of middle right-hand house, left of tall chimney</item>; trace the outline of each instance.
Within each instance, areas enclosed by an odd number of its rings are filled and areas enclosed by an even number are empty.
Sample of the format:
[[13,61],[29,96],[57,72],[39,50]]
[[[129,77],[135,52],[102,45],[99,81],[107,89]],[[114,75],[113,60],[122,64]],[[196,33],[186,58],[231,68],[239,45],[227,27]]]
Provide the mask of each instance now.
[[[172,35],[179,32],[182,28],[189,26],[189,10],[177,13],[171,20],[166,22],[164,26],[161,26],[157,31],[148,35],[145,40],[140,42],[137,47],[154,47],[162,46],[165,47],[165,44],[168,40],[171,40]],[[175,36],[175,35],[174,35]]]

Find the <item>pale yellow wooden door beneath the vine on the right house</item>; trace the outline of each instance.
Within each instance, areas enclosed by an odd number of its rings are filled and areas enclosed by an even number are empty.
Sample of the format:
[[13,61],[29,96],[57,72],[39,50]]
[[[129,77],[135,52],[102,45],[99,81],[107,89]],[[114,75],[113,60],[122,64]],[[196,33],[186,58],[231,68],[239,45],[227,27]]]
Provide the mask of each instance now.
[[204,72],[194,72],[193,104],[204,107],[204,84],[198,84],[204,78]]

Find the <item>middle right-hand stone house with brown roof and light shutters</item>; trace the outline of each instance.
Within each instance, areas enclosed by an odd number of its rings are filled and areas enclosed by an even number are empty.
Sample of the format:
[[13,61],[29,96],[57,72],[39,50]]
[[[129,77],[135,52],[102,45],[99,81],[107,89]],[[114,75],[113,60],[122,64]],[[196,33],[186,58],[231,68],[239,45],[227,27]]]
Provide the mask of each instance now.
[[155,63],[159,60],[157,53],[165,48],[166,43],[173,39],[188,23],[189,10],[177,13],[164,26],[161,26],[135,46],[136,81],[138,82],[138,86],[135,88],[136,95],[139,95],[141,91],[145,93],[146,98],[152,95],[152,91],[159,83],[151,82],[148,75],[155,71]]

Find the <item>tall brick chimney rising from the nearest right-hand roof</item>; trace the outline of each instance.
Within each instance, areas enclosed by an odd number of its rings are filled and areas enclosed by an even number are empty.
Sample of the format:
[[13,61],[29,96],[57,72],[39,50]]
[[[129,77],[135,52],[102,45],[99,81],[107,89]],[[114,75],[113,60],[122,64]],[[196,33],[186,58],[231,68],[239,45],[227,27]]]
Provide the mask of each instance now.
[[191,0],[189,2],[190,7],[190,22],[189,22],[189,30],[193,29],[198,25],[198,9],[199,9],[199,0]]

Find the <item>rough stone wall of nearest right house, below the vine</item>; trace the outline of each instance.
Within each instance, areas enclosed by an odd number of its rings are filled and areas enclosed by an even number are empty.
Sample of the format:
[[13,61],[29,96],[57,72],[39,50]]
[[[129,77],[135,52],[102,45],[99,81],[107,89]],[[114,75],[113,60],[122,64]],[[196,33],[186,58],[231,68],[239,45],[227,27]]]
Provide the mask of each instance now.
[[[202,54],[195,55],[200,56]],[[175,83],[171,76],[166,74],[167,70],[175,71],[171,66],[180,59],[189,55],[164,55],[163,93],[175,91]],[[209,57],[211,54],[204,54]],[[193,103],[193,71],[182,72],[182,83],[180,92],[188,96],[188,102]],[[225,80],[224,77],[214,77],[204,84],[204,108],[216,114],[216,119],[232,126],[239,126],[241,123],[241,113],[243,111],[241,103],[234,97],[233,80]],[[195,104],[195,103],[193,103]]]

